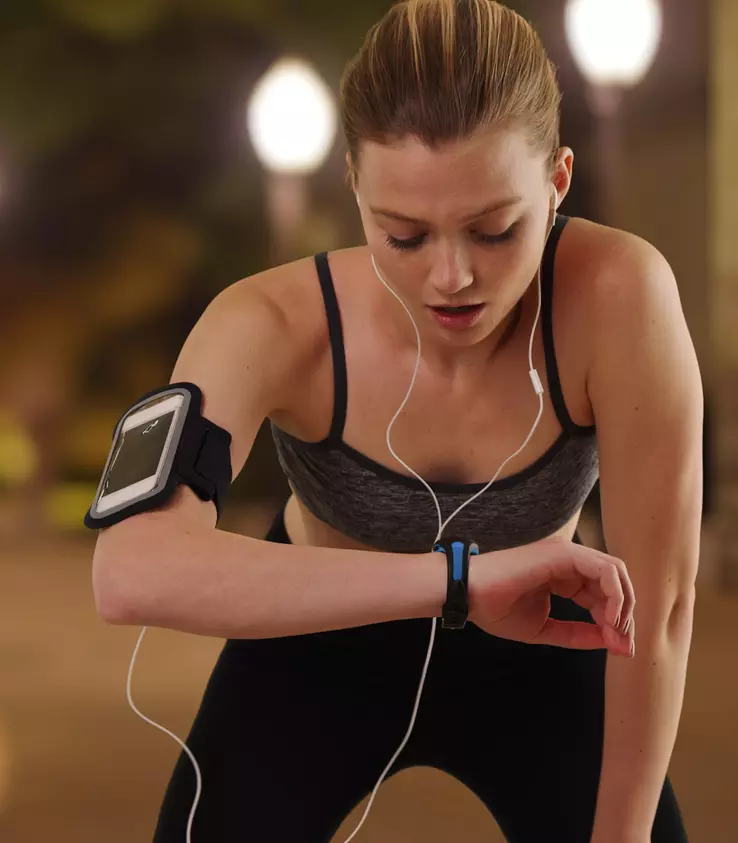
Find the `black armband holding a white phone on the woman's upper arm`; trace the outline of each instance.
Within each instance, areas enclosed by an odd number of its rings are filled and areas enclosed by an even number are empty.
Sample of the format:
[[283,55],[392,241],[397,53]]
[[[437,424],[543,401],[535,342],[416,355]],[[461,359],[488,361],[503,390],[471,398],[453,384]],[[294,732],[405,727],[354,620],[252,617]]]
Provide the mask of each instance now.
[[232,479],[231,434],[204,418],[201,407],[199,387],[183,382],[146,393],[123,414],[86,527],[155,509],[180,483],[214,501],[220,519]]

